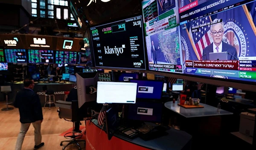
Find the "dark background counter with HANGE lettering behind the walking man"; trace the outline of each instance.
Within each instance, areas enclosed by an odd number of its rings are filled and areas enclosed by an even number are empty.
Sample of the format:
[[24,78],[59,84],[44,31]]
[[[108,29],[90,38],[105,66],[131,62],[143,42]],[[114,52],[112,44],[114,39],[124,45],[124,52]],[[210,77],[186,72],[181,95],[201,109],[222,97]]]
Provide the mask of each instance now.
[[[7,82],[7,85],[10,85],[12,88],[12,93],[9,94],[9,101],[14,102],[16,93],[24,88],[23,82],[11,83]],[[45,92],[43,87],[47,87],[47,90],[53,91],[55,95],[55,101],[64,100],[64,92],[70,91],[74,86],[75,82],[66,82],[66,83],[37,83],[35,84],[34,91],[38,94],[40,98],[41,105],[44,106],[45,102]],[[48,97],[47,97],[48,99]],[[53,98],[52,98],[53,100]]]

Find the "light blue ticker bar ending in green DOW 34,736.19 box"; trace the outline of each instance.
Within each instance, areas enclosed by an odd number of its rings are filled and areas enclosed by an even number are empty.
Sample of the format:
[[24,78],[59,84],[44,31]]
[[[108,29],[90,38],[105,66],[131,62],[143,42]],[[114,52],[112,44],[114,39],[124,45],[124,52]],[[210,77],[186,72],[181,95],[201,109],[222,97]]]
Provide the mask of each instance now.
[[228,76],[234,78],[256,79],[256,72],[253,71],[232,71],[220,69],[186,68],[187,73],[204,74],[214,76]]

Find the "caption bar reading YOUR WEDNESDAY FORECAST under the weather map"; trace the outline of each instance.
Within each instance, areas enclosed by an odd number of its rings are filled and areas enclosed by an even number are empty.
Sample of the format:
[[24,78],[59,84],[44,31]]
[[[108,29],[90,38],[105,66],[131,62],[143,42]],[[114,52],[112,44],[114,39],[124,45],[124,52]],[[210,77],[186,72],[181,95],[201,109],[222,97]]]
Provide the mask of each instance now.
[[182,73],[182,65],[149,64],[149,70]]

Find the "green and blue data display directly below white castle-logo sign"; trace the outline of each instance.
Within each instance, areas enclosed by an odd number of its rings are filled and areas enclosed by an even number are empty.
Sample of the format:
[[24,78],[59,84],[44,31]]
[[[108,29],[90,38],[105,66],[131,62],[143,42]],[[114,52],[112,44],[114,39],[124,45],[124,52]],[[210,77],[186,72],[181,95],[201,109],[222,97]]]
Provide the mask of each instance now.
[[52,50],[28,50],[29,63],[53,63]]

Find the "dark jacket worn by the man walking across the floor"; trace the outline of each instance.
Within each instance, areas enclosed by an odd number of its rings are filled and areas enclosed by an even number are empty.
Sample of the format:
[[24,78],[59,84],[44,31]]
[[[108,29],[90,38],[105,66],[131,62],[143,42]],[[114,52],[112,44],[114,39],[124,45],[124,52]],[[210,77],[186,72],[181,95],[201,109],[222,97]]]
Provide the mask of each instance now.
[[19,108],[21,123],[32,123],[43,120],[39,96],[31,89],[24,88],[17,93],[14,107]]

